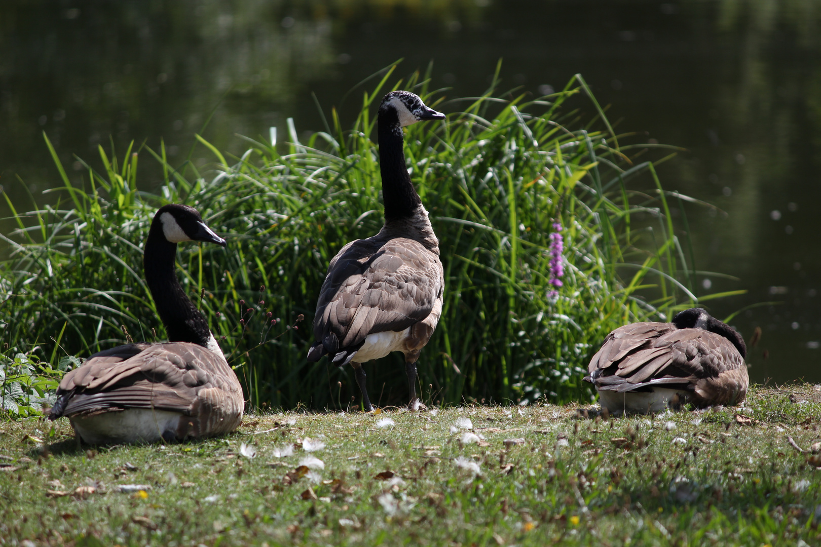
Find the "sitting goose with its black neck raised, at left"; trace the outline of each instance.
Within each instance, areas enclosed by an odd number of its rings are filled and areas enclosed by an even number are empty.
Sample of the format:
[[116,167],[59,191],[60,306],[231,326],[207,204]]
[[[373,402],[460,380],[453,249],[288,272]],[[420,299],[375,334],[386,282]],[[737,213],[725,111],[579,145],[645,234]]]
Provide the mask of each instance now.
[[177,243],[192,240],[225,247],[195,208],[172,204],[154,215],[145,242],[145,280],[170,341],[94,353],[60,382],[48,417],[67,416],[86,443],[207,437],[240,425],[240,382],[174,272]]

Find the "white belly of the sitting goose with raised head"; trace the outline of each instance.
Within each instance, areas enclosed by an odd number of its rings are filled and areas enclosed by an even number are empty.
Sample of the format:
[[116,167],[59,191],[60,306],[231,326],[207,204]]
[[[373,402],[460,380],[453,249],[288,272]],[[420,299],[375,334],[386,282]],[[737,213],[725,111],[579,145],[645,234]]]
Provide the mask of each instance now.
[[89,417],[71,417],[74,431],[88,444],[154,443],[163,440],[168,431],[177,435],[181,413],[150,408],[96,414]]

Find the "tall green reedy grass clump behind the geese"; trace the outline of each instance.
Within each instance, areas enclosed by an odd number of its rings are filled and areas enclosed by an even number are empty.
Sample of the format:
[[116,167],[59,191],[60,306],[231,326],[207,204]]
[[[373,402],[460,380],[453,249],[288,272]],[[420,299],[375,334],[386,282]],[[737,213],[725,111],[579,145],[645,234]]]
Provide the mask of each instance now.
[[[347,408],[359,397],[352,376],[305,360],[310,321],[330,259],[382,225],[374,110],[383,93],[401,88],[448,115],[411,126],[406,137],[446,270],[442,320],[418,364],[424,398],[590,399],[580,378],[610,330],[695,302],[691,253],[679,239],[687,229],[681,198],[663,191],[654,169],[675,150],[617,134],[580,76],[538,100],[494,98],[495,83],[481,98],[447,99],[428,89],[427,76],[397,79],[394,68],[364,94],[349,129],[333,111],[307,142],[291,124],[288,142],[248,139],[241,157],[198,137],[215,158],[207,171],[172,166],[163,147],[129,148],[119,162],[100,148],[82,184],[57,162],[56,205],[9,202],[18,230],[0,236],[0,366],[25,354],[57,370],[60,358],[122,344],[122,326],[135,340],[162,340],[141,246],[157,207],[187,203],[228,247],[181,245],[183,285],[203,295],[250,407]],[[160,162],[156,194],[137,191],[138,158]],[[681,226],[670,207],[681,208]],[[556,221],[566,273],[552,298]],[[374,402],[406,399],[400,356],[366,369]]]

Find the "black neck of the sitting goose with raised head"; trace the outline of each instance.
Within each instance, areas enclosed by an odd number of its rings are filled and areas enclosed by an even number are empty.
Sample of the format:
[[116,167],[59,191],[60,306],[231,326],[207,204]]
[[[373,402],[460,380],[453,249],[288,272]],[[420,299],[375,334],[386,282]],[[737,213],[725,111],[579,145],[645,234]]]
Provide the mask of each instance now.
[[177,244],[165,239],[162,223],[154,221],[145,242],[143,268],[168,341],[206,346],[211,338],[208,321],[180,286],[174,271],[176,258]]

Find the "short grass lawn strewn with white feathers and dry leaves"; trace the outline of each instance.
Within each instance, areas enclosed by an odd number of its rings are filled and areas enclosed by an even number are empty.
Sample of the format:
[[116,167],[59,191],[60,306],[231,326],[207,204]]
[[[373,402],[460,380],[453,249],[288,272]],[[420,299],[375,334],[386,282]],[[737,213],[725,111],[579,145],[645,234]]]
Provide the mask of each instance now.
[[[704,413],[608,421],[577,408],[268,413],[245,417],[222,439],[134,447],[80,447],[66,420],[5,422],[0,537],[34,545],[821,542],[821,456],[809,452],[819,440],[821,386],[754,386],[744,407]],[[736,413],[758,422],[741,425]],[[394,425],[379,427],[386,417]],[[465,418],[473,429],[452,432]],[[484,440],[462,443],[468,432]],[[516,438],[523,444],[506,447]],[[309,439],[324,448],[306,452]],[[286,446],[294,454],[277,458]],[[305,474],[307,456],[324,468]],[[383,472],[393,481],[380,480]],[[119,485],[150,489],[120,493]]]

